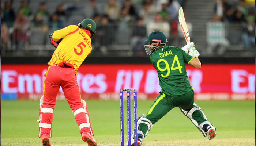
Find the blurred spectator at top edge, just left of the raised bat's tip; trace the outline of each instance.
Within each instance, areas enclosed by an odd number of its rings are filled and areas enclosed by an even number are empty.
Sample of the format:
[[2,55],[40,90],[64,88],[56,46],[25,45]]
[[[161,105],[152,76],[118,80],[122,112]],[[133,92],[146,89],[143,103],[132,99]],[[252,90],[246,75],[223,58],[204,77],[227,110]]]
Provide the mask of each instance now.
[[171,21],[177,20],[180,7],[181,5],[177,0],[169,0],[166,10],[171,16]]

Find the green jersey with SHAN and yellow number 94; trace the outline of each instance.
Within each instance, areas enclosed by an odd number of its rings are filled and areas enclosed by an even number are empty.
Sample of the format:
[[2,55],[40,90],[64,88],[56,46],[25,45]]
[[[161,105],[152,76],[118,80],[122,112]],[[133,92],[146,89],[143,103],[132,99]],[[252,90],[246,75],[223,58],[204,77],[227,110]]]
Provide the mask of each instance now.
[[185,68],[185,63],[192,59],[191,55],[179,47],[164,46],[150,55],[150,62],[157,70],[162,93],[181,96],[192,90]]

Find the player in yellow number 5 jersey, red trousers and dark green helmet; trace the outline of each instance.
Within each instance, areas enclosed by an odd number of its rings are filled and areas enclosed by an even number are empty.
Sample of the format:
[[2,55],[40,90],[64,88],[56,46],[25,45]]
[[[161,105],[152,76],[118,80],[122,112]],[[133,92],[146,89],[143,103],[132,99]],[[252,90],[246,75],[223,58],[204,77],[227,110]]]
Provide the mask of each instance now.
[[91,38],[95,30],[96,23],[91,19],[84,19],[78,26],[70,25],[49,35],[56,50],[44,74],[44,95],[40,99],[38,122],[39,137],[42,138],[43,146],[51,146],[49,139],[52,137],[53,111],[60,86],[74,113],[82,140],[87,142],[88,146],[97,146],[87,105],[81,99],[76,78],[79,66],[91,53]]

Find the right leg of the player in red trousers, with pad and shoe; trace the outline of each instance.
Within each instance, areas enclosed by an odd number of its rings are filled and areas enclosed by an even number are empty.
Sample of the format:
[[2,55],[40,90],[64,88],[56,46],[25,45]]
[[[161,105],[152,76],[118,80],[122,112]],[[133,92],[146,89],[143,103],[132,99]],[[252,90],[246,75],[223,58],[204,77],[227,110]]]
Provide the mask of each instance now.
[[87,142],[88,146],[97,146],[97,143],[93,138],[93,130],[91,128],[87,105],[84,100],[81,100],[76,77],[74,76],[71,81],[63,81],[61,86],[64,95],[68,100],[68,104],[74,112],[76,123],[80,128],[80,134],[82,135],[83,141]]

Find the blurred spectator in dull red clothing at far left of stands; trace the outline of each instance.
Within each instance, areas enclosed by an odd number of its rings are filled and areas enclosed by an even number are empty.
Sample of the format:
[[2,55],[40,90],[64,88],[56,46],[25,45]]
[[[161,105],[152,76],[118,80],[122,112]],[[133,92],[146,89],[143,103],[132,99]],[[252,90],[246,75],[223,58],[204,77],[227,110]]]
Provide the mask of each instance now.
[[29,30],[29,20],[27,20],[25,14],[20,11],[14,22],[13,37],[16,45],[16,51],[27,43],[27,30]]

